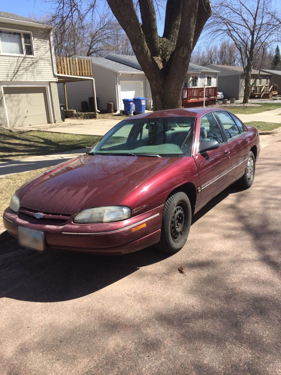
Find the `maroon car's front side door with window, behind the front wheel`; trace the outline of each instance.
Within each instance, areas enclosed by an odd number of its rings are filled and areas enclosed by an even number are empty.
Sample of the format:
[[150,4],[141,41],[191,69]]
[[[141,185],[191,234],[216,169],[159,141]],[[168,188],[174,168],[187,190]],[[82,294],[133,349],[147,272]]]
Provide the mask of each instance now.
[[[199,201],[202,207],[209,199],[223,190],[230,179],[232,169],[230,149],[226,137],[213,113],[207,113],[200,118],[200,129],[194,159],[199,172]],[[220,147],[203,154],[197,153],[200,142],[215,139]]]

